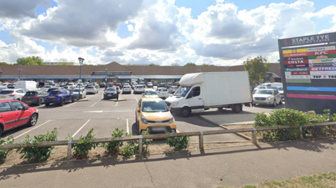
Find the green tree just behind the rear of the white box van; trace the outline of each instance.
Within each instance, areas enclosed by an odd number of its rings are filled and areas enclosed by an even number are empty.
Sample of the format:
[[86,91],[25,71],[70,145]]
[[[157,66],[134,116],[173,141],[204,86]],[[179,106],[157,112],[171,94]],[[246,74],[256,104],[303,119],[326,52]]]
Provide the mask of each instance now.
[[266,75],[270,66],[271,64],[261,55],[253,59],[246,59],[244,62],[245,71],[248,71],[248,77],[253,84],[258,83]]

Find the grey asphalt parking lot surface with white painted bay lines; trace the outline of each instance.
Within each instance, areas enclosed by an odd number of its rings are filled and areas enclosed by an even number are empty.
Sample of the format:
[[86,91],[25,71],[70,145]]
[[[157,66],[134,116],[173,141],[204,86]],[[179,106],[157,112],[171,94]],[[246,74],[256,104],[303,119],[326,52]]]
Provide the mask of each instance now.
[[[38,122],[33,127],[21,126],[18,129],[13,129],[3,136],[12,135],[15,141],[22,141],[26,135],[33,138],[35,135],[51,131],[54,127],[58,131],[58,140],[65,140],[69,133],[74,139],[78,139],[81,135],[85,135],[91,128],[94,129],[94,134],[97,138],[109,138],[112,131],[116,128],[123,129],[127,133],[137,133],[135,124],[135,108],[137,101],[141,99],[141,94],[120,94],[119,101],[115,99],[103,100],[103,88],[99,89],[98,94],[87,94],[86,99],[77,101],[76,103],[66,103],[65,106],[51,104],[46,107],[32,106],[38,109]],[[283,108],[284,105],[277,106]],[[270,112],[274,108],[267,106],[244,107],[243,114],[257,112]],[[219,112],[216,109],[211,109],[201,114],[191,115],[184,118],[174,115],[178,132],[188,131],[212,131],[223,129],[216,124],[211,124],[203,120],[199,115],[216,115]],[[227,115],[232,121],[239,121],[239,116],[224,110],[221,114]],[[235,117],[234,117],[235,116]],[[226,117],[226,116],[225,116]],[[215,136],[205,136],[204,142],[223,142],[223,141],[238,141],[244,140],[235,134],[222,134]],[[155,140],[153,143],[164,143],[165,140]],[[192,143],[197,143],[198,138],[192,137]]]

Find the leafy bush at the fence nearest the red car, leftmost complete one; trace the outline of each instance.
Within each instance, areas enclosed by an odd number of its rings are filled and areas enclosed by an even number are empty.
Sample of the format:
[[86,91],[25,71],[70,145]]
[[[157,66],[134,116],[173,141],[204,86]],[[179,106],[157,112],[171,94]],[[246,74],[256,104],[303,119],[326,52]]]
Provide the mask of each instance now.
[[[50,154],[54,153],[53,146],[50,147],[37,147],[38,143],[49,142],[57,140],[57,130],[54,128],[50,133],[47,131],[46,134],[40,134],[34,136],[34,139],[29,139],[29,135],[26,136],[23,142],[20,142],[23,146],[20,147],[16,152],[20,152],[21,159],[28,159],[32,161],[45,161],[48,159]],[[33,145],[33,147],[28,147],[28,145]]]

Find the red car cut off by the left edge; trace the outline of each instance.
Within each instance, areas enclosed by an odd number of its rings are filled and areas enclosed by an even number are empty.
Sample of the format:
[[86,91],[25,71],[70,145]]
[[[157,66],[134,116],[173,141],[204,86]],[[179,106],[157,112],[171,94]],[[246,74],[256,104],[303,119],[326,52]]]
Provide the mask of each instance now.
[[16,100],[0,101],[0,136],[3,132],[27,124],[34,126],[38,110]]

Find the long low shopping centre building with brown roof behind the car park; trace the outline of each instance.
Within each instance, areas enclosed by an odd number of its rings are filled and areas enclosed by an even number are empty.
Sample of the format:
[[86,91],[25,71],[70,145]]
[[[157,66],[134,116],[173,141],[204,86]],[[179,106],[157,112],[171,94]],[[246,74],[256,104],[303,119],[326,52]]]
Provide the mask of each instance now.
[[[179,81],[186,73],[244,71],[239,66],[135,66],[111,62],[104,66],[0,66],[1,82],[13,80],[35,80],[44,82],[123,82],[124,80],[158,80],[159,82]],[[265,81],[281,81],[280,64],[271,64]]]

